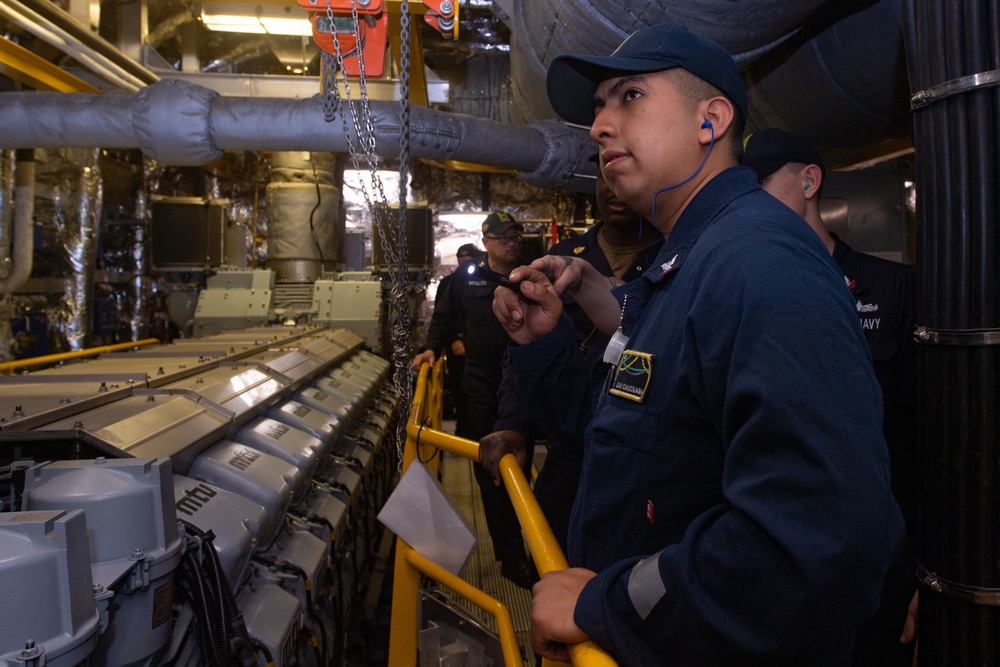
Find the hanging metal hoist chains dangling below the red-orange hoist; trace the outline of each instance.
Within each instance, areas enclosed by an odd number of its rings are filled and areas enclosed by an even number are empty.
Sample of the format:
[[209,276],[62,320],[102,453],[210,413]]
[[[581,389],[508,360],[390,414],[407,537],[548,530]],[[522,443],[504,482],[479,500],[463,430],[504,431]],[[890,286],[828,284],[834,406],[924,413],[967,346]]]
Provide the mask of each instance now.
[[[361,54],[361,25],[358,17],[357,0],[351,3],[351,19],[354,25],[354,34],[357,36],[356,53],[358,58],[358,89],[359,100],[355,102],[351,92],[351,85],[347,79],[347,70],[344,67],[344,53],[341,49],[340,38],[337,36],[336,24],[334,23],[333,8],[330,0],[326,0],[326,15],[330,22],[330,31],[333,36],[334,54],[323,52],[324,77],[323,86],[323,110],[327,122],[331,122],[338,110],[343,110],[340,114],[341,123],[344,130],[344,137],[347,141],[347,150],[351,158],[351,165],[357,173],[361,173],[361,166],[358,160],[358,148],[354,144],[354,136],[357,136],[360,150],[365,156],[368,170],[371,175],[371,195],[364,180],[360,181],[361,193],[365,199],[365,206],[368,207],[372,215],[372,227],[379,235],[382,244],[382,251],[390,267],[395,267],[389,272],[389,293],[391,295],[390,308],[395,310],[396,317],[391,325],[391,340],[393,344],[393,387],[400,399],[400,413],[404,415],[396,425],[396,452],[397,469],[402,472],[403,444],[406,441],[406,425],[410,406],[413,403],[413,370],[410,366],[410,322],[411,314],[409,301],[407,300],[408,272],[406,264],[406,187],[409,172],[409,62],[410,62],[410,15],[409,4],[403,0],[401,6],[401,32],[402,32],[402,58],[400,65],[400,92],[402,106],[400,123],[400,184],[399,184],[399,224],[393,227],[389,222],[389,205],[382,185],[382,179],[378,172],[380,169],[379,157],[376,152],[375,126],[372,121],[372,111],[369,105],[367,77],[365,75],[364,58]],[[348,57],[350,54],[348,54]],[[347,96],[347,104],[343,104],[340,98],[340,91],[337,86],[336,72],[341,73],[344,82],[344,90]],[[329,77],[326,76],[329,72]],[[350,110],[351,123],[354,132],[348,126],[347,110]],[[360,113],[359,113],[360,112]],[[359,120],[359,115],[361,116]],[[373,197],[374,196],[374,197]],[[372,199],[376,200],[373,205]],[[394,233],[395,232],[395,233]]]

